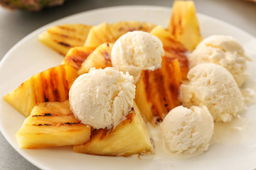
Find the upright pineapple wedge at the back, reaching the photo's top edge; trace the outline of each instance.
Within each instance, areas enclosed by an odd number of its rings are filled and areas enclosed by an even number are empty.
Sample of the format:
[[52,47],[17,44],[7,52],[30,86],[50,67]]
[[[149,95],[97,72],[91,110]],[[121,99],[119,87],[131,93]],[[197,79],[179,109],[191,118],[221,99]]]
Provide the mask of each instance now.
[[174,1],[168,30],[188,50],[196,48],[202,37],[193,1]]

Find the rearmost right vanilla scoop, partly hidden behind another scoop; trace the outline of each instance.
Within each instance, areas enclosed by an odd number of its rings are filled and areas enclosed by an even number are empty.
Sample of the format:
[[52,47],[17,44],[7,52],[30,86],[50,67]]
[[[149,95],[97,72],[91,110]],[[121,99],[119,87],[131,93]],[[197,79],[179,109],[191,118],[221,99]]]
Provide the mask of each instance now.
[[238,86],[242,86],[248,77],[246,61],[242,46],[232,37],[225,35],[211,35],[203,40],[190,55],[190,67],[197,64],[211,62],[228,69]]

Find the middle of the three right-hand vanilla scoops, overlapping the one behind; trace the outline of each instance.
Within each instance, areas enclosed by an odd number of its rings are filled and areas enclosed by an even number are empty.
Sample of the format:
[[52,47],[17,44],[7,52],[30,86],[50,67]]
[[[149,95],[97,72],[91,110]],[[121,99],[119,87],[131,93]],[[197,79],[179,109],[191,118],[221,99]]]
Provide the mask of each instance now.
[[188,72],[188,84],[181,84],[184,106],[206,106],[213,120],[230,121],[244,107],[238,84],[227,69],[213,63],[198,64]]

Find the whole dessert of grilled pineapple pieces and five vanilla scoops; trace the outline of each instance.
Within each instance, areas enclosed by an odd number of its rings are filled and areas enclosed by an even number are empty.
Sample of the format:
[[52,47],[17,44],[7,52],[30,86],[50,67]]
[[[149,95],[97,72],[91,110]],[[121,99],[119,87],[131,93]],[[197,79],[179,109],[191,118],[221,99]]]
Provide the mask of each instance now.
[[207,151],[214,123],[231,121],[245,105],[239,88],[247,57],[223,35],[201,42],[193,1],[174,2],[167,28],[139,21],[64,24],[38,39],[63,62],[4,96],[26,117],[16,132],[24,149],[154,154],[150,124],[161,127],[170,153],[197,155]]

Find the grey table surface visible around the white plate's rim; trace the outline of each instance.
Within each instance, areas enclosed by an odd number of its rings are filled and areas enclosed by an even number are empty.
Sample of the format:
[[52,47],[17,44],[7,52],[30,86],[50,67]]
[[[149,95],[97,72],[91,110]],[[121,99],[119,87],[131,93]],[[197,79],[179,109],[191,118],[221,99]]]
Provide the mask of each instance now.
[[[59,18],[94,8],[124,5],[169,6],[170,0],[67,0],[41,12],[9,11],[0,7],[0,60],[28,33]],[[256,37],[256,3],[243,0],[195,0],[198,13],[213,16]],[[0,133],[0,169],[38,169],[18,154]]]

